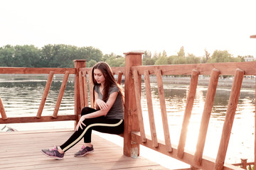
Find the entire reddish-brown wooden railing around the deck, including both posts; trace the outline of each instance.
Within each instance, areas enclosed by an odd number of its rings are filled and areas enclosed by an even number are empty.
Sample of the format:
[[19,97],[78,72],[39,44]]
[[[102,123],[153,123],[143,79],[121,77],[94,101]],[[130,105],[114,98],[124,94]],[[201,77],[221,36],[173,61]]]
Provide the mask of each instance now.
[[[125,53],[125,67],[112,68],[117,74],[117,81],[121,82],[124,75],[124,154],[128,157],[139,156],[139,145],[144,145],[191,165],[191,169],[242,169],[239,166],[226,164],[225,155],[230,140],[230,132],[233,126],[235,111],[238,105],[240,88],[244,75],[256,75],[256,62],[234,62],[234,63],[214,63],[214,64],[183,64],[183,65],[161,65],[142,66],[142,54],[140,52]],[[28,123],[43,121],[76,120],[80,118],[81,108],[89,106],[92,100],[92,85],[90,84],[91,68],[85,67],[85,60],[75,60],[75,69],[28,69],[28,68],[1,68],[0,74],[49,74],[46,89],[43,94],[38,114],[29,118],[8,118],[4,112],[4,106],[0,100],[1,119],[0,123]],[[65,74],[63,86],[60,89],[55,112],[52,116],[41,116],[46,96],[48,94],[50,81],[53,74]],[[65,89],[65,81],[68,74],[75,74],[75,114],[57,115],[60,101]],[[146,135],[144,130],[144,120],[141,106],[142,75],[146,90],[146,101],[149,113],[149,125],[151,135]],[[153,102],[151,98],[151,84],[149,75],[155,75],[159,91],[159,101],[161,106],[161,118],[164,132],[164,141],[157,137],[156,124],[154,122]],[[164,98],[163,75],[191,75],[191,83],[187,94],[186,108],[183,116],[183,123],[178,145],[171,143],[169,135],[169,125],[166,114],[166,103]],[[196,145],[196,152],[185,151],[186,135],[193,109],[193,101],[196,95],[199,75],[209,75],[210,82],[206,94],[206,102],[201,118],[201,127]],[[218,85],[220,75],[233,75],[233,86],[230,93],[227,113],[223,125],[223,132],[218,148],[216,159],[203,156],[203,149],[208,132],[210,114],[213,108],[213,100]],[[89,89],[87,89],[89,86]],[[89,95],[87,93],[89,91]],[[255,108],[256,109],[256,108]],[[256,127],[256,126],[255,126]],[[256,153],[256,150],[255,150]],[[256,154],[255,154],[256,155]],[[248,163],[252,164],[252,163]],[[255,163],[253,163],[255,164]],[[242,165],[242,164],[241,164]],[[243,164],[242,166],[246,166]]]

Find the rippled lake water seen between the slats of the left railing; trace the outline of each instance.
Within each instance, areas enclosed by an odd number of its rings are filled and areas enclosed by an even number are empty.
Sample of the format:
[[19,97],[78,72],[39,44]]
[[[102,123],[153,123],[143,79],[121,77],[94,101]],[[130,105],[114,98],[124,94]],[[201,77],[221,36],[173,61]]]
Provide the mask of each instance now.
[[[0,96],[9,117],[35,116],[41,103],[46,86],[46,78],[23,77],[8,78],[0,81]],[[58,98],[60,80],[54,80],[43,109],[43,115],[52,115]],[[65,87],[59,114],[72,114],[74,111],[74,83],[69,79]]]

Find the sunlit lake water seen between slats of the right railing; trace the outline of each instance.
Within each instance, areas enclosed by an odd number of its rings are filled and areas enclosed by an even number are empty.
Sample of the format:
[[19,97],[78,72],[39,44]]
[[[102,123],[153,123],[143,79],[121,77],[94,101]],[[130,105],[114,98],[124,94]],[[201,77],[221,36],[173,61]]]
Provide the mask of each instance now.
[[[218,145],[223,128],[223,121],[228,108],[228,100],[231,88],[218,87],[213,102],[213,110],[210,115],[208,125],[208,135],[204,154],[215,158],[218,152]],[[193,104],[190,125],[188,127],[188,137],[186,149],[195,151],[198,131],[201,123],[201,116],[206,100],[207,86],[198,86]],[[151,94],[154,103],[154,117],[156,120],[156,130],[159,138],[164,140],[164,132],[161,130],[161,110],[158,99],[158,89],[156,83],[151,83]],[[169,130],[171,142],[178,144],[183,113],[186,107],[186,94],[188,85],[164,84],[164,96],[166,98],[166,110],[169,120]],[[142,107],[144,111],[144,125],[146,133],[150,134],[149,118],[146,110],[146,96],[142,91]],[[253,161],[254,142],[254,117],[255,117],[255,89],[241,89],[238,100],[238,108],[235,113],[233,130],[230,136],[226,161],[230,163],[240,162],[240,158],[245,157],[248,162]],[[246,141],[245,141],[246,140]]]

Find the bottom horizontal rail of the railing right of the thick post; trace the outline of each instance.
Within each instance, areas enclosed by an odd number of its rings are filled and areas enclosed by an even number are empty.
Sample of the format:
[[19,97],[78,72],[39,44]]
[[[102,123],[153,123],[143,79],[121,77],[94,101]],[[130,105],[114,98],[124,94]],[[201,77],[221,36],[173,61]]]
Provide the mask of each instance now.
[[[178,147],[176,145],[171,145],[172,146],[172,152],[166,152],[166,145],[164,144],[163,141],[159,141],[159,147],[152,147],[153,142],[152,140],[149,140],[148,137],[146,137],[146,142],[142,142],[141,136],[139,132],[132,132],[132,141],[137,141],[139,142],[140,145],[143,145],[145,147],[148,147],[150,149],[155,150],[156,152],[160,152],[162,154],[166,154],[169,157],[172,157],[174,159],[177,159],[181,162],[184,162],[186,164],[190,164],[198,169],[214,169],[214,164],[215,164],[215,159],[203,156],[201,166],[198,166],[193,163],[193,158],[194,158],[194,152],[190,152],[186,150],[183,155],[183,159],[180,159],[178,157]],[[224,164],[224,170],[242,170],[242,168],[238,166],[234,166],[232,164]]]

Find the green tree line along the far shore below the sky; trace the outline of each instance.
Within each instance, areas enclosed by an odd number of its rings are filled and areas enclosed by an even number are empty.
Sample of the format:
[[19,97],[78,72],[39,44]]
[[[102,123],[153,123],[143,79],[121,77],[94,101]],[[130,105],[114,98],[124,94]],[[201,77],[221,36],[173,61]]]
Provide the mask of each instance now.
[[[205,50],[205,55],[185,56],[184,47],[176,55],[167,56],[163,52],[151,54],[149,50],[142,57],[143,65],[160,64],[198,64],[210,62],[245,62],[245,57],[233,57],[227,50],[215,50],[212,55]],[[124,67],[125,60],[121,55],[103,54],[95,47],[76,47],[73,45],[45,45],[41,48],[34,45],[5,45],[0,47],[0,67],[74,67],[73,60],[87,60],[86,67],[104,61],[111,67]]]

